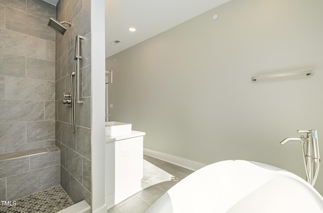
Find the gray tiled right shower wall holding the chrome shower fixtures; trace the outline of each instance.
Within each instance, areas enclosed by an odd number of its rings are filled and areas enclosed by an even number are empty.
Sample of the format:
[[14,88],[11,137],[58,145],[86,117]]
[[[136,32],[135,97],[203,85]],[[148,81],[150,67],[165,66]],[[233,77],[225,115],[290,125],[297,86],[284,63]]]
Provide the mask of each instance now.
[[[56,17],[71,21],[71,28],[56,35],[56,145],[61,148],[61,185],[74,202],[91,203],[91,17],[90,1],[59,1]],[[75,36],[81,40],[80,97],[76,105],[76,132],[72,132],[71,108],[62,104],[63,92],[71,93]]]

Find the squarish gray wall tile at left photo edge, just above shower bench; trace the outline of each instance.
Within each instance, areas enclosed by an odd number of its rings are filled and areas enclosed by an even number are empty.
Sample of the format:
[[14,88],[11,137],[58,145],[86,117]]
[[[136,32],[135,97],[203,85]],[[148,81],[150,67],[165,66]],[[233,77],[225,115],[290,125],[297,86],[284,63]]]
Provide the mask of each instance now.
[[0,123],[0,146],[26,143],[26,122]]

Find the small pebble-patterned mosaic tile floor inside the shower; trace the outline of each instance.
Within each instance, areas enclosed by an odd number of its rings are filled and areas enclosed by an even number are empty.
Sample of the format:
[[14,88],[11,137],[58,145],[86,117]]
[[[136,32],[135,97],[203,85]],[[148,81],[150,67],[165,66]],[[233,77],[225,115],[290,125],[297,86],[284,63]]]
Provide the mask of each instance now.
[[56,213],[73,205],[73,201],[61,186],[20,198],[15,206],[0,205],[0,213]]

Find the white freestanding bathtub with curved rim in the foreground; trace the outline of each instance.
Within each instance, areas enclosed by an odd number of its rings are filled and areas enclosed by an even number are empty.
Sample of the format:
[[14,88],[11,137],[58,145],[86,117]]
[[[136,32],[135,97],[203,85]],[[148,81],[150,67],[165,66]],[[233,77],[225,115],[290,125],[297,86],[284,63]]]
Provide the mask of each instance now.
[[223,161],[184,178],[147,213],[323,212],[322,196],[293,173],[266,164]]

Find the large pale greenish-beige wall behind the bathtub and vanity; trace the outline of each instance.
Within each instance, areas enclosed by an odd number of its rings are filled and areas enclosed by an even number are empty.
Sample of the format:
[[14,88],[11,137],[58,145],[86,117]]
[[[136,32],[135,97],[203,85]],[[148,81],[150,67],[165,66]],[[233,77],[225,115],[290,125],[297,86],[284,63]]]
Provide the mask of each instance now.
[[[279,142],[297,129],[318,129],[323,141],[322,8],[233,0],[107,58],[109,120],[132,123],[160,152],[203,164],[248,159],[305,178],[300,144]],[[307,69],[314,76],[251,81]]]

